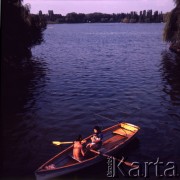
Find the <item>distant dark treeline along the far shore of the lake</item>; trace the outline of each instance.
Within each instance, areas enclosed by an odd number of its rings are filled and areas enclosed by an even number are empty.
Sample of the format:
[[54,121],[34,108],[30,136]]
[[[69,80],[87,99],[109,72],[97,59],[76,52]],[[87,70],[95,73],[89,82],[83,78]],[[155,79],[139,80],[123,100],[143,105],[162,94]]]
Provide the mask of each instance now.
[[68,13],[66,16],[54,14],[53,10],[49,10],[48,14],[39,11],[39,16],[46,19],[48,23],[160,23],[166,21],[166,15],[152,10],[119,14],[104,13]]

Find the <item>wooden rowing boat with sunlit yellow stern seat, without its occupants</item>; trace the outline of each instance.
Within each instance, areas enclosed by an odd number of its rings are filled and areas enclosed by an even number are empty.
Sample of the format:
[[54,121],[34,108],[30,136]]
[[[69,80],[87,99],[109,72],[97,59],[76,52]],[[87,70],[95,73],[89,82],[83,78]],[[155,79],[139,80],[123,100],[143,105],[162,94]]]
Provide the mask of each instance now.
[[[112,155],[116,151],[120,150],[127,143],[129,143],[139,131],[139,127],[130,123],[119,123],[102,131],[103,144],[99,151],[107,155]],[[84,140],[89,140],[91,136],[88,136]],[[41,167],[36,172],[36,179],[51,179],[61,175],[69,174],[74,171],[78,171],[85,167],[91,166],[97,162],[100,162],[104,157],[95,153],[92,153],[88,157],[85,156],[81,162],[72,158],[73,145],[63,150]]]

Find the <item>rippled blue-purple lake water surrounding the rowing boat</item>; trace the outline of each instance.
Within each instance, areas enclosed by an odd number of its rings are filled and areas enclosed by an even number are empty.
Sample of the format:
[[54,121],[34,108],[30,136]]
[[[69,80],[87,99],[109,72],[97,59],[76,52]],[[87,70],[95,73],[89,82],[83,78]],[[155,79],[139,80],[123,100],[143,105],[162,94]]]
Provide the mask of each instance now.
[[[66,147],[51,141],[85,137],[94,125],[105,128],[118,121],[141,131],[117,157],[138,162],[159,157],[176,162],[180,171],[180,57],[162,41],[163,28],[48,25],[44,43],[32,49],[33,76],[15,102],[9,100],[13,111],[7,109],[3,123],[4,177],[33,178],[42,163]],[[105,178],[106,162],[65,177],[87,174]]]

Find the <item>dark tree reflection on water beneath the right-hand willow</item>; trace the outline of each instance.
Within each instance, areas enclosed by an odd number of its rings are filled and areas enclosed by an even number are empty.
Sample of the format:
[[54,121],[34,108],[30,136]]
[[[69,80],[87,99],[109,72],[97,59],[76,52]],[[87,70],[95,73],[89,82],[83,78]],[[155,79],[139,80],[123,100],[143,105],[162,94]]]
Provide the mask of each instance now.
[[170,51],[162,52],[163,91],[174,106],[180,105],[180,56]]

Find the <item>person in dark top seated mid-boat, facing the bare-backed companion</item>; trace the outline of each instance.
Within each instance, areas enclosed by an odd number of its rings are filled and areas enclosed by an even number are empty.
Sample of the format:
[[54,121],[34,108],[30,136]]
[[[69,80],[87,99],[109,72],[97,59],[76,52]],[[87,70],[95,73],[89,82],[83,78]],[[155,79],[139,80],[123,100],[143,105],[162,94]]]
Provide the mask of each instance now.
[[95,126],[93,130],[94,134],[91,137],[91,143],[87,144],[86,148],[97,150],[102,146],[103,134],[99,126]]

